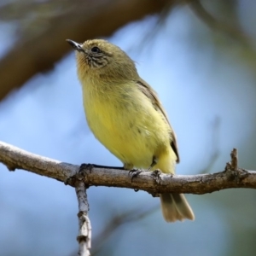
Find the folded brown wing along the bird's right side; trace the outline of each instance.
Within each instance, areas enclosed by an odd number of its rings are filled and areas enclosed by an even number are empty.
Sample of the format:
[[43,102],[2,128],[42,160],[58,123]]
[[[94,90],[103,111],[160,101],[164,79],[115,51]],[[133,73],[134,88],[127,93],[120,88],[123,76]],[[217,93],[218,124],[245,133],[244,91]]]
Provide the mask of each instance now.
[[170,137],[171,137],[170,145],[171,145],[172,150],[174,151],[174,153],[177,155],[177,160],[176,161],[177,161],[177,163],[179,163],[179,155],[178,155],[178,150],[177,150],[176,136],[175,136],[174,131],[172,130],[172,126],[169,122],[166,111],[163,108],[163,106],[162,106],[162,104],[161,104],[161,102],[160,102],[160,100],[157,96],[157,93],[143,79],[137,81],[137,85],[138,85],[139,90],[141,90],[143,92],[143,94],[150,99],[154,108],[159,109],[160,112],[163,113],[164,117],[166,118],[166,122],[170,125],[170,128],[171,128],[170,129],[170,131],[171,131],[171,133],[170,133]]

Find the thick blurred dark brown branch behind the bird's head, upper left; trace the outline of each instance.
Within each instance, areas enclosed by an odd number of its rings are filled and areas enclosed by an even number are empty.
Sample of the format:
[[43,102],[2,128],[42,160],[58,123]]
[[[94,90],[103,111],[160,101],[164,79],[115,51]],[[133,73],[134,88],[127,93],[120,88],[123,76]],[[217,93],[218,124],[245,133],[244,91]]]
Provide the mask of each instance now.
[[[74,0],[64,12],[43,17],[48,26],[35,25],[31,37],[24,32],[25,36],[18,38],[15,47],[0,61],[0,101],[9,91],[21,87],[35,74],[49,70],[67,54],[70,47],[65,39],[84,42],[88,38],[107,37],[128,22],[159,13],[166,3],[170,6],[172,1]],[[6,9],[6,5],[3,7]]]

